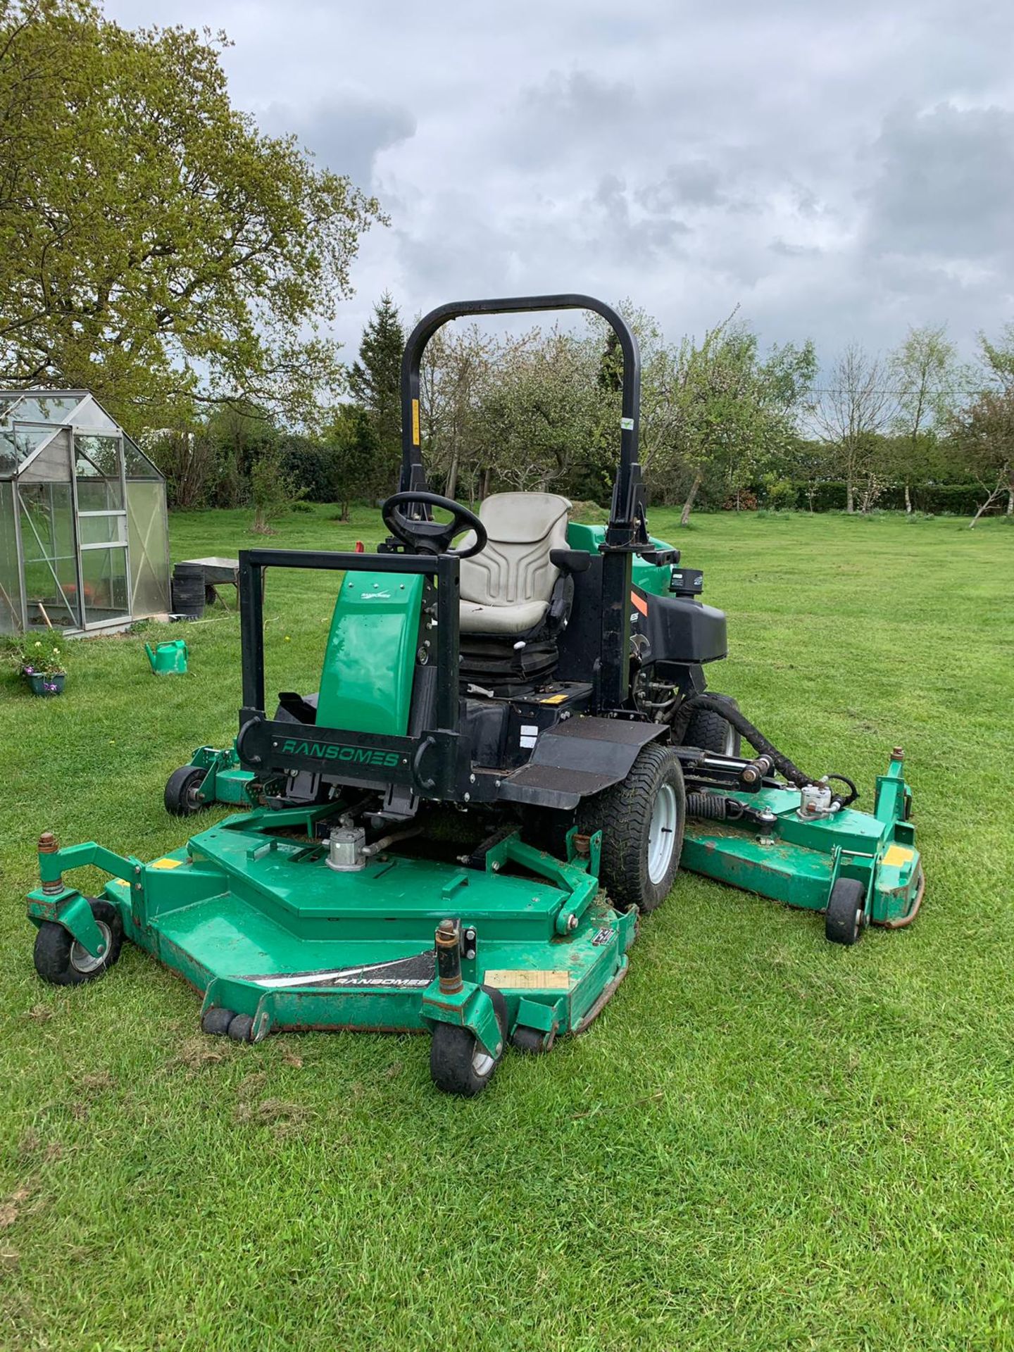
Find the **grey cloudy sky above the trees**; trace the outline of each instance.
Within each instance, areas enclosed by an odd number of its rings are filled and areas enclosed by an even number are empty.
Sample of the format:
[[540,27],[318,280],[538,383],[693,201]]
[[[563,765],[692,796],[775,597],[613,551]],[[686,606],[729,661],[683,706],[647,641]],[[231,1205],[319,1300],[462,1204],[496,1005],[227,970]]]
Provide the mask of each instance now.
[[224,28],[234,101],[391,216],[338,337],[539,291],[823,361],[1014,319],[1013,0],[107,0]]

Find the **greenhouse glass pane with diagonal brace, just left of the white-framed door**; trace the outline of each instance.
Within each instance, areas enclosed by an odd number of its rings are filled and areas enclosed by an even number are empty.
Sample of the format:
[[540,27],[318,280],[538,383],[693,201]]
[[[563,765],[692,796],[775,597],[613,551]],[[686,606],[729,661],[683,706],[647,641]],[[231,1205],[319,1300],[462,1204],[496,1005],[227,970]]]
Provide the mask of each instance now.
[[81,618],[70,484],[20,484],[18,498],[28,627],[77,626]]

